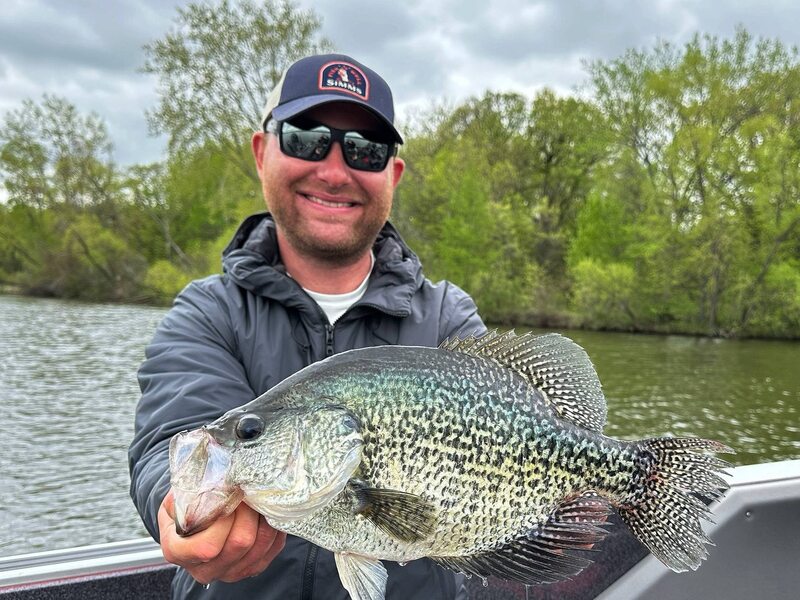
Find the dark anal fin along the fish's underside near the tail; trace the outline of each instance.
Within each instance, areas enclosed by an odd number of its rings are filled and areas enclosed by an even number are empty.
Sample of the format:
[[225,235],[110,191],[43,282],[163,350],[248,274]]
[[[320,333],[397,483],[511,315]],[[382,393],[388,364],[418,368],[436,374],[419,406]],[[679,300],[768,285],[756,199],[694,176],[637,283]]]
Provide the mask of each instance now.
[[608,503],[586,494],[559,506],[550,518],[528,534],[487,552],[468,556],[431,556],[456,572],[495,576],[527,585],[571,579],[592,561],[569,550],[588,550],[602,540],[610,514]]

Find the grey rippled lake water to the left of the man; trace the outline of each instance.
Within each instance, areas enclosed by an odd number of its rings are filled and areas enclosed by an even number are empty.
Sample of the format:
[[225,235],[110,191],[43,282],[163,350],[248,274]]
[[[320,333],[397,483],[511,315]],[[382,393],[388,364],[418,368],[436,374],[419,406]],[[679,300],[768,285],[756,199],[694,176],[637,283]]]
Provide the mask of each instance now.
[[147,535],[127,445],[163,314],[0,296],[0,555]]

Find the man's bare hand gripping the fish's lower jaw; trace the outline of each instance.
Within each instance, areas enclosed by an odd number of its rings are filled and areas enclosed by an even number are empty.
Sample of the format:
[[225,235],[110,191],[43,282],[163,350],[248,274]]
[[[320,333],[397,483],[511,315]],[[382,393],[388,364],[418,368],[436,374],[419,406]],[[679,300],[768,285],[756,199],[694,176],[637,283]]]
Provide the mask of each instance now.
[[233,582],[266,569],[283,550],[286,534],[242,502],[233,513],[188,537],[175,532],[175,501],[170,491],[158,509],[161,551],[202,584]]

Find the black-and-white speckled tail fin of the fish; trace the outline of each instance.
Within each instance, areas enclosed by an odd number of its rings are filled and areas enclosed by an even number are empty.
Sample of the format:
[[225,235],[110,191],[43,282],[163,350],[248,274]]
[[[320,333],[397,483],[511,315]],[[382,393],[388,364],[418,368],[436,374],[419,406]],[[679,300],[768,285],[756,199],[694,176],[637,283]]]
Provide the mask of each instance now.
[[708,557],[706,544],[711,544],[700,520],[711,521],[708,504],[729,487],[721,475],[728,474],[730,465],[706,453],[733,450],[698,438],[642,440],[639,447],[641,469],[618,507],[620,516],[667,567],[695,570]]

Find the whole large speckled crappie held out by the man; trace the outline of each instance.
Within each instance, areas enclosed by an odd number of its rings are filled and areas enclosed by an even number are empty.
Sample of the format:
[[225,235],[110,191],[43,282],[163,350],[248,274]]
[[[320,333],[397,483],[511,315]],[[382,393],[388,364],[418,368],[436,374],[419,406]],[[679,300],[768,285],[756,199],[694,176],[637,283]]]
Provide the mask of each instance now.
[[332,551],[356,600],[381,600],[381,560],[428,557],[536,585],[591,561],[611,508],[674,571],[706,558],[700,519],[732,452],[696,438],[621,441],[586,352],[558,334],[490,332],[439,348],[331,356],[213,423],[177,434],[182,535],[244,501]]

